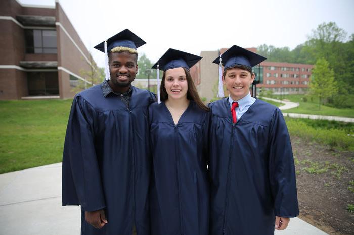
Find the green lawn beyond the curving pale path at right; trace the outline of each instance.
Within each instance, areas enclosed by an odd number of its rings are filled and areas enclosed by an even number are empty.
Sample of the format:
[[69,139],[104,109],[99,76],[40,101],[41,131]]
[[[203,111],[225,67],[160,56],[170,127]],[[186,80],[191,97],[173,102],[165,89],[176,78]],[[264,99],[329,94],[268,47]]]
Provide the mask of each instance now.
[[[283,95],[282,97],[284,97],[284,99],[300,104],[300,106],[296,108],[284,110],[284,112],[326,115],[326,116],[347,116],[349,118],[354,118],[354,109],[332,108],[324,105],[321,105],[321,109],[319,109],[319,104],[317,99],[311,101],[307,98],[308,99],[307,102],[303,102],[302,98],[304,97],[304,95],[285,95],[285,96]],[[273,95],[272,98],[280,99],[280,95]]]

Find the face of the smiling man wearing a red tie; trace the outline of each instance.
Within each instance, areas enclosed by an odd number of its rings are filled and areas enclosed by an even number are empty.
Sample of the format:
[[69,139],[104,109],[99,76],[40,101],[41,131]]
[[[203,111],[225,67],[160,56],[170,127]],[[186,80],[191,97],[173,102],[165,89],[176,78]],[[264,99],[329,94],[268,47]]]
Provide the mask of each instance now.
[[234,101],[242,99],[249,93],[249,88],[254,80],[254,74],[239,68],[227,69],[223,83],[226,85]]

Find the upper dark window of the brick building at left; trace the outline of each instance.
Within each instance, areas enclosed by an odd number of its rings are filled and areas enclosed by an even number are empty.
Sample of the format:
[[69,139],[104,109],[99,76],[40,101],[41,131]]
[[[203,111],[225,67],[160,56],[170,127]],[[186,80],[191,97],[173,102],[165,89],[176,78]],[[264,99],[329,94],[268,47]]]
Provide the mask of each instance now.
[[26,29],[25,39],[26,53],[57,53],[57,31],[55,30]]

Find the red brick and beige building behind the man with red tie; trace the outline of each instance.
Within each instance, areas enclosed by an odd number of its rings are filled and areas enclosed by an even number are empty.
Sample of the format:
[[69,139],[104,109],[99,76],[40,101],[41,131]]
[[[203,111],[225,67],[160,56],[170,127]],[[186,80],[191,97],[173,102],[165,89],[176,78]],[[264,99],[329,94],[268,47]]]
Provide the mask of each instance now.
[[[224,53],[228,48],[219,51],[202,51],[202,60],[197,63],[199,70],[194,76],[200,79],[197,86],[201,97],[207,100],[216,98],[218,86],[218,65],[212,63],[215,58]],[[247,48],[252,52],[257,52],[256,48]],[[271,90],[274,94],[303,94],[308,89],[313,65],[292,64],[283,62],[270,62],[268,60],[253,67],[256,74],[257,94],[260,89]],[[226,92],[225,95],[228,95]]]

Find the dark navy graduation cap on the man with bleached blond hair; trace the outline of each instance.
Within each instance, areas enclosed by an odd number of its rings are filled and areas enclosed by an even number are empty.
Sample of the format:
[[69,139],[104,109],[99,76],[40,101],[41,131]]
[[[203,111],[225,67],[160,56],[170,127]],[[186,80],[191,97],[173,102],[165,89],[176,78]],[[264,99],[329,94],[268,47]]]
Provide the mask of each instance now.
[[[107,39],[107,51],[111,51],[111,49],[117,46],[128,47],[132,49],[137,49],[138,47],[144,45],[146,42],[143,41],[140,37],[135,35],[129,29],[124,29],[120,33],[117,33],[113,37]],[[105,42],[101,42],[100,44],[94,47],[99,51],[105,52]]]

